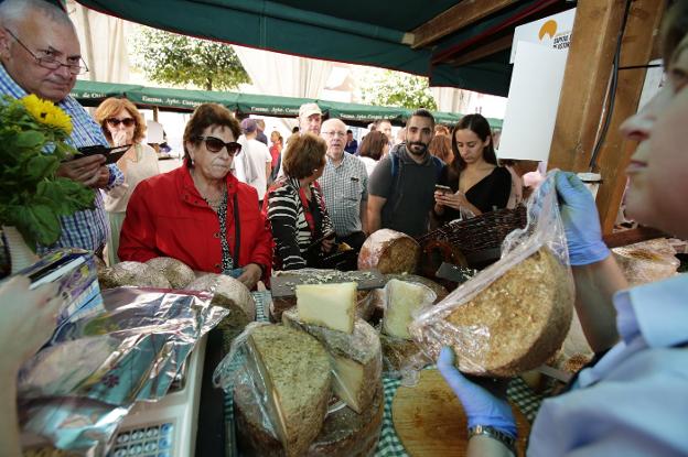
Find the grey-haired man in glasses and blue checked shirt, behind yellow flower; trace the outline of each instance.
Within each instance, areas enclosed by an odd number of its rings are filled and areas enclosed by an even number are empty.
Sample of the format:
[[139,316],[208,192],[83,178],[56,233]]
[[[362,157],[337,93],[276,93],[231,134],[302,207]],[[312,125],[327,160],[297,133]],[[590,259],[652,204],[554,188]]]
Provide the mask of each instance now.
[[[72,118],[73,146],[107,145],[100,127],[72,97],[76,75],[88,72],[82,59],[74,25],[65,11],[43,0],[4,0],[0,3],[0,95],[22,98],[34,94],[51,100]],[[108,221],[99,188],[122,183],[116,165],[95,154],[63,163],[57,175],[94,189],[94,208],[62,217],[62,236],[54,248],[82,248],[101,255]]]

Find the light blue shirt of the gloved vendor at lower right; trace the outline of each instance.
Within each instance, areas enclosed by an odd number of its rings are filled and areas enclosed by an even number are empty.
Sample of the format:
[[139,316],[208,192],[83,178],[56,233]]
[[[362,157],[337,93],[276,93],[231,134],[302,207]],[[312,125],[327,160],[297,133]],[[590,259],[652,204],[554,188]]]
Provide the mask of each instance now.
[[622,340],[538,412],[528,455],[688,455],[688,275],[614,296]]

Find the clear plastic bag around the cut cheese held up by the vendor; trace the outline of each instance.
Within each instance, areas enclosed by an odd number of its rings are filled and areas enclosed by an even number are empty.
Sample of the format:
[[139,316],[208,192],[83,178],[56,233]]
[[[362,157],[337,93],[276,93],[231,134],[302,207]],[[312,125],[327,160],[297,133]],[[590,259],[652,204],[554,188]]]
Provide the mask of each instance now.
[[[559,349],[571,323],[573,281],[555,173],[528,200],[528,224],[505,238],[501,260],[417,314],[410,331],[428,361],[450,346],[460,370],[507,377]],[[534,306],[544,301],[551,314],[540,316]]]

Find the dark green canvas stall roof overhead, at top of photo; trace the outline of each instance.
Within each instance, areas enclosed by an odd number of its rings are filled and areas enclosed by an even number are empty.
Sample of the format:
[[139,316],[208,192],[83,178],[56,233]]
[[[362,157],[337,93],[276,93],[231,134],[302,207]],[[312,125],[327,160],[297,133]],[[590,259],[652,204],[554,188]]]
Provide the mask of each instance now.
[[[293,55],[426,75],[432,86],[506,96],[504,46],[455,65],[465,53],[513,34],[514,28],[571,8],[566,0],[77,0],[94,10],[158,29]],[[492,8],[465,26],[412,47],[417,28],[448,10]],[[464,11],[461,10],[461,11]],[[460,21],[461,18],[453,18]],[[434,26],[436,22],[431,22]],[[437,22],[438,28],[451,21]]]

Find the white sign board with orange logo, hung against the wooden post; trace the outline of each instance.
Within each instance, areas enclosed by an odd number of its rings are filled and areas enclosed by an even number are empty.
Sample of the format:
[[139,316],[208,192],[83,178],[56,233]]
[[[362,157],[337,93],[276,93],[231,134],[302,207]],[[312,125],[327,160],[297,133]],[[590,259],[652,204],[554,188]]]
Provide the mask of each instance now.
[[522,42],[506,104],[499,159],[546,161],[568,53]]

